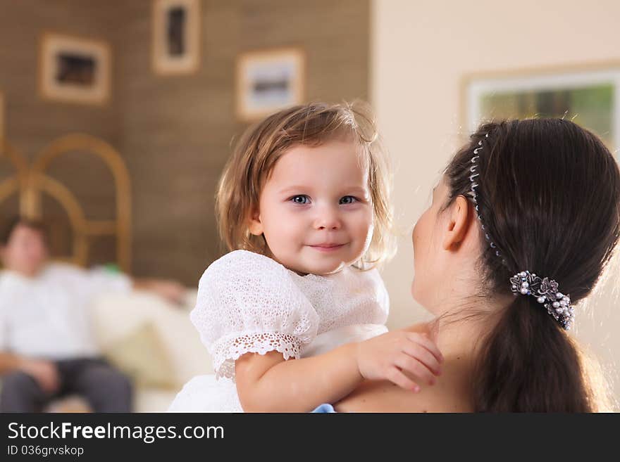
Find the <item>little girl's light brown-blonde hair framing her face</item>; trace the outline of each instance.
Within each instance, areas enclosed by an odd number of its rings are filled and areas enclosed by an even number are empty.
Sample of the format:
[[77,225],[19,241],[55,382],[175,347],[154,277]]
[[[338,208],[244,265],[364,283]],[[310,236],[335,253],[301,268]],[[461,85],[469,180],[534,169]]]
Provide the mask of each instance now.
[[373,115],[365,103],[328,105],[311,103],[280,110],[249,127],[235,146],[222,174],[216,212],[222,240],[228,250],[250,250],[269,255],[263,236],[249,233],[251,214],[259,208],[262,188],[275,163],[295,145],[319,146],[349,137],[360,148],[368,168],[374,233],[359,267],[373,267],[391,257],[392,207],[390,165],[378,139]]

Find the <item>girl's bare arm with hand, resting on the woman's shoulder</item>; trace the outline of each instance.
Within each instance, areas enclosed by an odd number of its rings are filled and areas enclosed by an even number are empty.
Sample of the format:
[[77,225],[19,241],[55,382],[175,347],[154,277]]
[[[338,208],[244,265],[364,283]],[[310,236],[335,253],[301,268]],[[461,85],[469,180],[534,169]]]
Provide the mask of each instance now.
[[305,412],[342,399],[364,379],[418,391],[409,375],[432,385],[442,361],[428,335],[392,331],[304,359],[247,353],[235,361],[235,376],[244,411]]

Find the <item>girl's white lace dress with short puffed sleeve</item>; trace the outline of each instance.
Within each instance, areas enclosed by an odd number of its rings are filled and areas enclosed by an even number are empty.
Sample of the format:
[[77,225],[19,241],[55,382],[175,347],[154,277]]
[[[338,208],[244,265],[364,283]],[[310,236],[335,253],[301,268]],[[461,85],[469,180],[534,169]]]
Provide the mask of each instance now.
[[215,374],[192,378],[168,411],[241,412],[235,360],[242,354],[275,350],[299,359],[366,340],[387,332],[388,307],[376,269],[299,276],[263,255],[230,252],[204,271],[190,314]]

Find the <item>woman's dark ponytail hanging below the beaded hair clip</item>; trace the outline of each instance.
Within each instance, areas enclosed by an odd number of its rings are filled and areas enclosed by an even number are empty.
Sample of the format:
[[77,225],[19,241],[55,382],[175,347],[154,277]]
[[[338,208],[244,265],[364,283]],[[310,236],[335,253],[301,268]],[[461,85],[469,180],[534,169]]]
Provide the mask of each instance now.
[[517,295],[481,340],[471,383],[480,412],[591,412],[576,344],[533,297]]

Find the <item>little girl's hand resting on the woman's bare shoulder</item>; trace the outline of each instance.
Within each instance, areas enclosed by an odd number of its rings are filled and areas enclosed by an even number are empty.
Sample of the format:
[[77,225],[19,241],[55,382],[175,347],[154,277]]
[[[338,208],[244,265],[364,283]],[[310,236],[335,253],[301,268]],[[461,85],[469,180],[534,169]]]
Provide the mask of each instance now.
[[435,345],[437,331],[428,333],[391,331],[359,342],[357,367],[369,380],[390,380],[399,387],[417,392],[420,387],[406,373],[429,385],[441,373],[443,356]]

